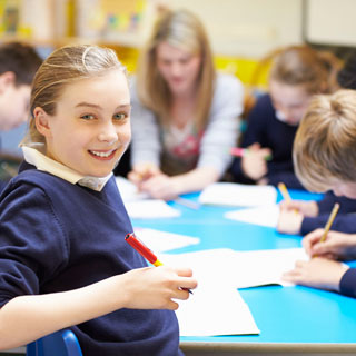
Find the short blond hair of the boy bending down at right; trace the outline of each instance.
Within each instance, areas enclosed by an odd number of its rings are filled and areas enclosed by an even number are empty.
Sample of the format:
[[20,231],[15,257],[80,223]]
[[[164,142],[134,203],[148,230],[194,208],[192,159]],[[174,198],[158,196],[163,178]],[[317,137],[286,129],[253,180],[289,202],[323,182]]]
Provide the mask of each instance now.
[[294,141],[295,171],[312,191],[356,181],[356,91],[315,96]]

